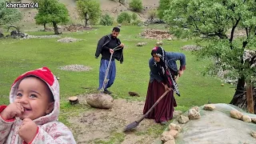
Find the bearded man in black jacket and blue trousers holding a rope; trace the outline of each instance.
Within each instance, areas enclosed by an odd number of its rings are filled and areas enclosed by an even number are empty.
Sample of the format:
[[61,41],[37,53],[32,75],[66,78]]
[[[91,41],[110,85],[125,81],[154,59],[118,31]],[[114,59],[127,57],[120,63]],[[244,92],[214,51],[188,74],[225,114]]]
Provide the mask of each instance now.
[[[112,84],[114,83],[114,78],[116,74],[114,59],[117,59],[118,61],[120,61],[121,64],[123,62],[122,49],[124,47],[124,44],[121,43],[120,40],[118,39],[119,32],[120,32],[119,27],[114,27],[111,34],[107,34],[103,36],[98,41],[97,50],[95,52],[95,58],[98,58],[99,54],[102,54],[101,63],[99,67],[98,90],[102,89],[105,74],[106,74],[106,69],[110,62],[110,69],[107,75],[107,79],[109,79],[109,81],[106,83],[106,86],[104,87],[104,91],[103,91],[105,94],[111,94],[111,92],[107,90],[107,88],[112,86]],[[114,48],[121,48],[121,49],[114,50]],[[113,56],[110,60],[111,54],[113,54]]]

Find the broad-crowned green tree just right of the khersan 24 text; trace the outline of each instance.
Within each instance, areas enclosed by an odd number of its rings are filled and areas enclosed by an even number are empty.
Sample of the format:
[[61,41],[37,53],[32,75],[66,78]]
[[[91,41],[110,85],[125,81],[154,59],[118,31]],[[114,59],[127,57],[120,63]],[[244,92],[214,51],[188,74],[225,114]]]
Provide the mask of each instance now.
[[60,34],[58,24],[70,20],[66,6],[57,0],[41,0],[38,5],[38,14],[35,16],[36,23],[44,26],[46,23],[52,23],[54,34]]

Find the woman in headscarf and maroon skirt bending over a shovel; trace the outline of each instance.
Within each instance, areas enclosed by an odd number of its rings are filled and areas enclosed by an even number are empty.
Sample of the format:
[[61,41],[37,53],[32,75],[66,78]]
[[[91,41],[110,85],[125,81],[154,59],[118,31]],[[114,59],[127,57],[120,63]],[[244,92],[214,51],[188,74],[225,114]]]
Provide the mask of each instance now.
[[[170,90],[154,110],[146,118],[154,119],[165,125],[167,121],[173,118],[174,106],[177,106],[174,98],[174,91],[179,95],[178,86],[175,82],[175,75],[182,76],[186,69],[186,57],[182,53],[165,52],[161,46],[155,46],[151,51],[153,58],[150,58],[150,82],[146,95],[146,102],[143,114],[146,114],[154,102],[166,91]],[[180,61],[179,70],[176,61]]]

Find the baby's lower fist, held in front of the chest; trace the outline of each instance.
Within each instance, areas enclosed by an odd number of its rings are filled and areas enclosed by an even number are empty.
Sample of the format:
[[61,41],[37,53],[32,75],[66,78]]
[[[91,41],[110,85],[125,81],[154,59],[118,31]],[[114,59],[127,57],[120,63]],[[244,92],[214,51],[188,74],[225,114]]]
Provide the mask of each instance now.
[[30,119],[24,118],[19,127],[18,135],[26,142],[31,142],[37,134],[38,126]]

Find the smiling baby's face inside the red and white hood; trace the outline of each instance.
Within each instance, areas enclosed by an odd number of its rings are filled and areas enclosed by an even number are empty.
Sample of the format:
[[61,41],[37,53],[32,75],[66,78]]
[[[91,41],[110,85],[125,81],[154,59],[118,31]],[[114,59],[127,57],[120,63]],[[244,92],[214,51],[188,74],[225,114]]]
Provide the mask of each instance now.
[[28,77],[22,79],[14,102],[19,102],[24,107],[21,119],[32,120],[50,114],[50,90],[45,82],[39,78]]

